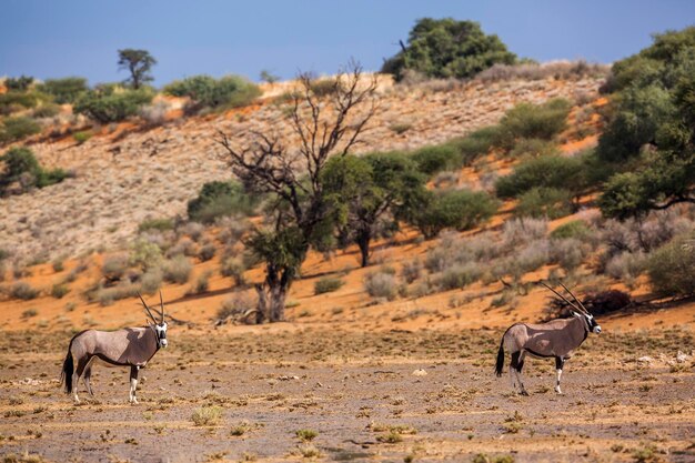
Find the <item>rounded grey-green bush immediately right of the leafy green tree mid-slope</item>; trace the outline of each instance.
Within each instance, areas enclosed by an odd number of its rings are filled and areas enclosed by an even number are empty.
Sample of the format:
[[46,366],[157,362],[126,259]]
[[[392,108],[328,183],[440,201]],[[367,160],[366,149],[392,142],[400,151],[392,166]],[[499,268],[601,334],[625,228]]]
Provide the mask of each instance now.
[[412,223],[426,239],[444,229],[470,230],[497,211],[497,201],[482,191],[457,190],[431,193],[426,207],[413,212]]

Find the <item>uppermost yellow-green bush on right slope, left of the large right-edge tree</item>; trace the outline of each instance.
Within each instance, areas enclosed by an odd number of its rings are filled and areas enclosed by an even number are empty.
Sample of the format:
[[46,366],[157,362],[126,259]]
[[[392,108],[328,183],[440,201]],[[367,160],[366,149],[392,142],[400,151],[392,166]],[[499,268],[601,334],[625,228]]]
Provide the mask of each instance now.
[[510,150],[521,139],[552,140],[567,127],[571,108],[571,103],[563,99],[540,105],[515,105],[500,121],[500,147]]

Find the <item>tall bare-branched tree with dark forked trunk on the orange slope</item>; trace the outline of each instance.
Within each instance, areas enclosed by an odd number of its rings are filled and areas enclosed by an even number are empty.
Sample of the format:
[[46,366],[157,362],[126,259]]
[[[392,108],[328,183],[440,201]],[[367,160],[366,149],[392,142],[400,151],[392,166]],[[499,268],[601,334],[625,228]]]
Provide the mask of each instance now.
[[289,117],[291,140],[276,133],[252,132],[252,142],[239,147],[219,132],[234,174],[259,193],[270,193],[270,220],[255,230],[246,245],[265,263],[265,281],[256,285],[256,321],[284,319],[285,298],[299,276],[306,253],[326,232],[330,208],[324,200],[322,172],[332,155],[344,157],[376,111],[376,78],[366,78],[351,62],[330,81],[316,85],[309,73],[298,78]]

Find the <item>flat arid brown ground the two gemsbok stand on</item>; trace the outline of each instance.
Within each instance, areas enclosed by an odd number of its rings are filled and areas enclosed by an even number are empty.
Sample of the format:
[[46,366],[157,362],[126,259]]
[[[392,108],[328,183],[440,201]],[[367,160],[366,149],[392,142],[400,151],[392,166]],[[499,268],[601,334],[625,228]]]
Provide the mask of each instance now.
[[0,454],[9,462],[695,460],[689,328],[590,336],[566,364],[563,395],[552,389],[553,362],[528,360],[527,397],[512,393],[506,368],[493,374],[501,331],[173,326],[170,348],[142,373],[139,405],[128,404],[125,369],[98,365],[95,395],[82,386],[79,406],[58,384],[70,335],[6,332]]

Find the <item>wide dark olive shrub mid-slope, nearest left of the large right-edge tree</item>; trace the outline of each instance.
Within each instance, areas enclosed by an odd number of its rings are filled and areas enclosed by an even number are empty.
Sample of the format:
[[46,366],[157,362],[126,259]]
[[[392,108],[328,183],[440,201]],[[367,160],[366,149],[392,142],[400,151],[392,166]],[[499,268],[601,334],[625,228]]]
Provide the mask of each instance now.
[[582,160],[546,155],[526,161],[495,182],[500,198],[515,198],[534,188],[563,189],[580,192],[584,187]]

